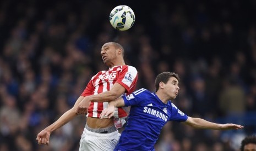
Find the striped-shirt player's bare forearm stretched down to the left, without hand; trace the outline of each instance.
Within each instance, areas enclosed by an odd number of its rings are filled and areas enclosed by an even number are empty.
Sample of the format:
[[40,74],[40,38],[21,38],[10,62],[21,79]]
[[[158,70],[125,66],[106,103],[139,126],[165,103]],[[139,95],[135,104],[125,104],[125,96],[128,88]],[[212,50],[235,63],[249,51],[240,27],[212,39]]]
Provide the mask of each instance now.
[[70,120],[72,120],[77,114],[73,111],[73,109],[69,109],[66,113],[64,113],[55,123],[46,127],[45,130],[49,132],[53,132],[57,130],[59,127],[67,124]]

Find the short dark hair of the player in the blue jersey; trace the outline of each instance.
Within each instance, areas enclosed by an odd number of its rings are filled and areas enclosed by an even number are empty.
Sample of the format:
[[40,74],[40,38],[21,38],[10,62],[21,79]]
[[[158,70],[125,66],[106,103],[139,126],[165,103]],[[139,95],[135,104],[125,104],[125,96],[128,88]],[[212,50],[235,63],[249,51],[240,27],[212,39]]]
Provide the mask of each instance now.
[[159,89],[159,83],[163,82],[166,84],[171,77],[175,77],[179,82],[179,75],[174,72],[162,72],[162,73],[158,74],[156,76],[156,80],[155,80],[156,92]]

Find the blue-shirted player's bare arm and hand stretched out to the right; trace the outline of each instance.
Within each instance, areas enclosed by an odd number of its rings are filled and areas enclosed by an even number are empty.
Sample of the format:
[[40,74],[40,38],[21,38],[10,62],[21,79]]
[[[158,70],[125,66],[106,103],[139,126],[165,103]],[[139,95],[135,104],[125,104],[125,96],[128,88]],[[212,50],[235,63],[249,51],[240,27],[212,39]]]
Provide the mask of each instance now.
[[212,123],[204,119],[192,118],[192,117],[188,117],[188,119],[184,123],[198,129],[238,130],[243,128],[242,125],[237,125],[232,123],[218,124],[218,123]]

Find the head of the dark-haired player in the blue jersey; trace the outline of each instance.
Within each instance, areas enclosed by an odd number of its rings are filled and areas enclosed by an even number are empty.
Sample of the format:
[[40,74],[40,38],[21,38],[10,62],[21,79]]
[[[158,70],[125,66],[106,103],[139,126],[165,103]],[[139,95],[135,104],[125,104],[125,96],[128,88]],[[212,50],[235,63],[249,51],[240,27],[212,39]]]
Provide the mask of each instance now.
[[171,99],[176,98],[179,90],[179,76],[174,72],[162,72],[157,75],[155,80],[155,88],[170,95]]

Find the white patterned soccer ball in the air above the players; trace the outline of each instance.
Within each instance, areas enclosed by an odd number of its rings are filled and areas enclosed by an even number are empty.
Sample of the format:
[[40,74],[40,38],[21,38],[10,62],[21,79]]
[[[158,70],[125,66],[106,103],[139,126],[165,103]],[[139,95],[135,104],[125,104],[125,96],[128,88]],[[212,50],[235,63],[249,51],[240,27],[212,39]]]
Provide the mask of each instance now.
[[129,30],[133,26],[135,15],[127,5],[119,5],[110,13],[110,24],[119,31]]

